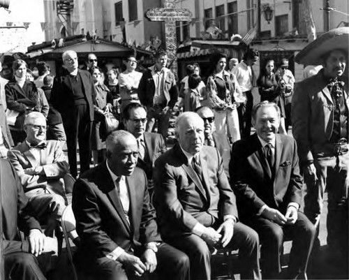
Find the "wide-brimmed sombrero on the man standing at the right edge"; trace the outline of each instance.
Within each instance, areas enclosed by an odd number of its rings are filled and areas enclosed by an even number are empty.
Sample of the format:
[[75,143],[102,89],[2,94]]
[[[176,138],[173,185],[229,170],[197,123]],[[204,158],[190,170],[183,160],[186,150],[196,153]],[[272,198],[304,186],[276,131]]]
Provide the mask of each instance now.
[[320,65],[322,56],[331,50],[341,49],[348,54],[349,27],[339,27],[322,34],[304,47],[295,57],[299,64]]

